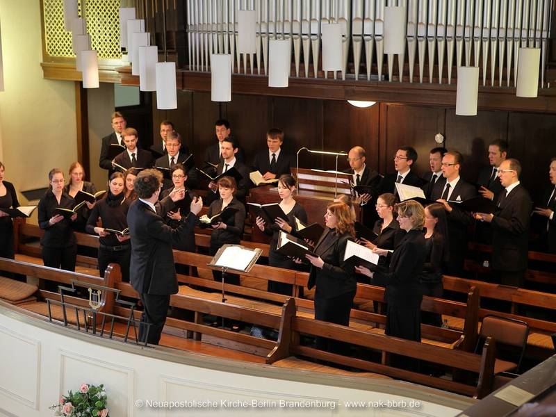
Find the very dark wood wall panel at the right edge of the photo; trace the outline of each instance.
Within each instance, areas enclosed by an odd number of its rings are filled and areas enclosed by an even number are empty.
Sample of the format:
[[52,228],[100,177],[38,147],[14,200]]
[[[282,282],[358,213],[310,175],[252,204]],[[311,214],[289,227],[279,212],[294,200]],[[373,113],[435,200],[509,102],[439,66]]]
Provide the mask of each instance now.
[[550,158],[556,156],[556,116],[531,113],[509,114],[509,156],[521,162],[521,181],[537,204],[549,186]]

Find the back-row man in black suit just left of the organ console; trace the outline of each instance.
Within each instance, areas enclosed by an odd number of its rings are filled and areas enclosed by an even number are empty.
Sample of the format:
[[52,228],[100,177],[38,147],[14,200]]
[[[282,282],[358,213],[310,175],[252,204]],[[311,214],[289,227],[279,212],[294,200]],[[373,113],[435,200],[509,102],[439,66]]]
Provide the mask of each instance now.
[[261,172],[263,179],[275,179],[281,174],[291,173],[293,156],[281,149],[283,143],[284,132],[281,129],[273,127],[266,133],[268,149],[256,154],[253,161],[253,170]]

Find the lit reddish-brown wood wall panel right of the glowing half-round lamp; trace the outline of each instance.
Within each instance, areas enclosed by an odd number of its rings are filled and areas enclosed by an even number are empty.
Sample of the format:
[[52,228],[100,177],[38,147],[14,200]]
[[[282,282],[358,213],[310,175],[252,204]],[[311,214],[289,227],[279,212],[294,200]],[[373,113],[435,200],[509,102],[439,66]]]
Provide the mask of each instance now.
[[[442,108],[402,106],[386,107],[386,171],[394,171],[393,156],[404,145],[416,149],[418,158],[414,170],[422,175],[429,167],[429,151],[436,146],[434,136],[439,132]],[[384,172],[383,172],[384,173]]]

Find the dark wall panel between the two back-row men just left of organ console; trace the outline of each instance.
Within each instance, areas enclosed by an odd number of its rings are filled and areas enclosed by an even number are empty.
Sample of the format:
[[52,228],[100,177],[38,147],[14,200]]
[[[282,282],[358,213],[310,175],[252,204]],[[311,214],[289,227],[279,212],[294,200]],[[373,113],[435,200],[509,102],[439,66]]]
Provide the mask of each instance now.
[[[267,147],[266,132],[273,127],[268,120],[269,101],[272,100],[263,96],[233,95],[229,103],[222,103],[222,117],[231,123],[231,133],[243,147],[249,165],[255,154]],[[284,141],[284,149],[294,152],[288,140]]]

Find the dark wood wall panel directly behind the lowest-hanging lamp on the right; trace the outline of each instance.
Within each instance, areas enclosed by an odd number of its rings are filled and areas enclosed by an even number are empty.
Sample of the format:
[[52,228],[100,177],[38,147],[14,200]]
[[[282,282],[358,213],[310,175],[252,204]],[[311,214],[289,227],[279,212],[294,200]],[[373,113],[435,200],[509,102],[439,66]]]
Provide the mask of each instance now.
[[458,116],[446,110],[445,144],[464,155],[461,177],[475,183],[481,167],[488,165],[489,143],[507,140],[506,111],[478,111],[476,116]]

